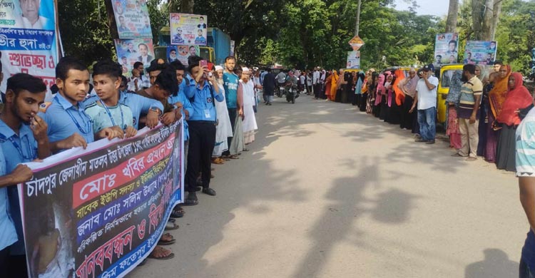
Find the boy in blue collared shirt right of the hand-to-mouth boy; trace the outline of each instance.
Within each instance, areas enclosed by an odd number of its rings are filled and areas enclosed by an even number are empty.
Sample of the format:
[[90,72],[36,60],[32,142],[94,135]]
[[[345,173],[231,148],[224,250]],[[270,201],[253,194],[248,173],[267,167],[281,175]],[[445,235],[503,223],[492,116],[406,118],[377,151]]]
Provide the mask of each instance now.
[[46,121],[53,153],[70,148],[87,148],[95,138],[115,138],[118,131],[107,128],[94,134],[91,118],[82,102],[89,91],[89,71],[78,59],[66,56],[56,65],[58,93],[51,103],[41,105],[39,115]]

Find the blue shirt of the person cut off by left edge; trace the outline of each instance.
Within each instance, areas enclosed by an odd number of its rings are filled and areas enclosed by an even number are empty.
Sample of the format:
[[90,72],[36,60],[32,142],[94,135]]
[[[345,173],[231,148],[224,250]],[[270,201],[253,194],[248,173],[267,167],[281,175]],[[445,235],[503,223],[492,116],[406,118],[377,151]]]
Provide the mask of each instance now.
[[[0,176],[6,175],[6,158],[0,148]],[[0,188],[0,250],[9,247],[17,240],[15,225],[9,212],[7,188]]]

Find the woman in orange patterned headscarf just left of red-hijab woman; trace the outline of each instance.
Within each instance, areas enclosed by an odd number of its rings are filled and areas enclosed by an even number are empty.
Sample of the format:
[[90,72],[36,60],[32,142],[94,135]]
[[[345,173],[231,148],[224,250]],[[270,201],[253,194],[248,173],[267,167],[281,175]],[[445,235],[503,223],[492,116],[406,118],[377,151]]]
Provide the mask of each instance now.
[[509,65],[501,66],[498,75],[494,77],[494,85],[489,91],[489,113],[486,113],[487,132],[484,138],[485,148],[484,157],[486,161],[496,162],[496,149],[498,147],[498,138],[501,130],[493,126],[496,118],[501,113],[507,96],[507,84],[509,83],[509,76],[511,75],[511,67]]

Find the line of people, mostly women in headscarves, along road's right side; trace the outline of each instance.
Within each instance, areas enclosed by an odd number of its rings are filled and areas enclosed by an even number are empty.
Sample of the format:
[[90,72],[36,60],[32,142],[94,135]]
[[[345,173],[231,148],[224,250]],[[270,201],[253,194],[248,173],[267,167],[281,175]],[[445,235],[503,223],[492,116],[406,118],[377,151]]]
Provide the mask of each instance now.
[[[411,130],[416,142],[434,144],[439,85],[435,74],[433,64],[410,68],[408,74],[402,69],[347,73],[315,68],[313,87],[315,99],[352,103],[375,118]],[[533,107],[521,73],[495,61],[489,67],[464,65],[442,78],[448,78],[442,81],[449,86],[444,129],[450,148],[457,150],[452,156],[468,161],[479,156],[498,169],[514,171],[514,132]]]

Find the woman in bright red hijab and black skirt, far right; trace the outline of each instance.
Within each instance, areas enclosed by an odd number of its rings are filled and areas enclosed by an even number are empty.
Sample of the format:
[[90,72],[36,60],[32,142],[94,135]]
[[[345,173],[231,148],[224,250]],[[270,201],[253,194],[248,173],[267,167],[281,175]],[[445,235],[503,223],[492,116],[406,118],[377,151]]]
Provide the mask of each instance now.
[[520,73],[511,73],[508,83],[507,97],[496,118],[496,122],[501,125],[501,132],[496,146],[496,168],[514,171],[516,167],[515,133],[516,127],[521,121],[519,111],[529,110],[529,108],[533,107],[533,97],[528,89],[524,87]]

